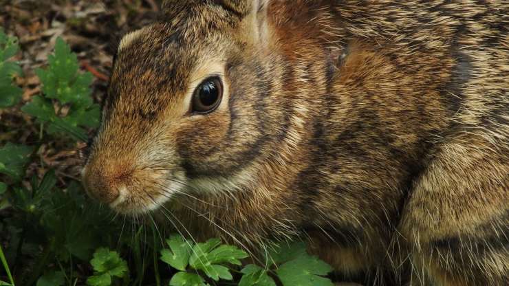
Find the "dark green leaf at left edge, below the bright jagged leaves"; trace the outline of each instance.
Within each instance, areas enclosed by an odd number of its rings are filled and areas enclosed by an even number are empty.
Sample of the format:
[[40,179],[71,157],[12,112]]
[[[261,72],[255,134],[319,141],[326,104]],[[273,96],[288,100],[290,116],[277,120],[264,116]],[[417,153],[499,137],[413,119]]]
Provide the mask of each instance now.
[[8,142],[0,147],[0,173],[19,181],[25,175],[25,165],[30,161],[34,148]]

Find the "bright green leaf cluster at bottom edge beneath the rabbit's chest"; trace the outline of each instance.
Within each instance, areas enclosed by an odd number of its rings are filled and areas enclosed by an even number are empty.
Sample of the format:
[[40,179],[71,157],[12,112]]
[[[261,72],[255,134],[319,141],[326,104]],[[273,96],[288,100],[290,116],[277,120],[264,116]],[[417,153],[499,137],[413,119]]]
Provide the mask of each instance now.
[[[208,285],[207,278],[231,281],[231,269],[226,265],[241,265],[239,259],[248,257],[243,250],[221,244],[219,239],[193,243],[174,235],[166,240],[168,248],[161,250],[161,260],[179,270],[169,283],[171,286]],[[265,268],[248,264],[241,270],[239,286],[332,286],[324,277],[332,268],[327,263],[307,254],[304,243],[275,246],[266,257]]]

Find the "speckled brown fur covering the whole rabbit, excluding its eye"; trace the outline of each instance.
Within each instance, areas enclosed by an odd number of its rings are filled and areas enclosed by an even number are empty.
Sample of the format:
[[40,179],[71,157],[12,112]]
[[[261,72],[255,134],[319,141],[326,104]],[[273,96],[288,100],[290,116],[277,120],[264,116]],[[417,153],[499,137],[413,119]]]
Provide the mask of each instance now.
[[507,285],[508,3],[163,8],[120,45],[92,195],[246,248],[298,236],[366,283]]

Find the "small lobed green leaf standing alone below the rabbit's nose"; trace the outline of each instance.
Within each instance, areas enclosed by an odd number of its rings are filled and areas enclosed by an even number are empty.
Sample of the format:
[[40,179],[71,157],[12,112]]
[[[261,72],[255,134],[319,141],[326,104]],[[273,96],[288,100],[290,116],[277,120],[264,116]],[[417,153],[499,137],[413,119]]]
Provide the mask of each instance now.
[[98,248],[90,264],[96,272],[107,273],[111,276],[124,277],[128,271],[126,261],[121,259],[116,251],[107,248]]

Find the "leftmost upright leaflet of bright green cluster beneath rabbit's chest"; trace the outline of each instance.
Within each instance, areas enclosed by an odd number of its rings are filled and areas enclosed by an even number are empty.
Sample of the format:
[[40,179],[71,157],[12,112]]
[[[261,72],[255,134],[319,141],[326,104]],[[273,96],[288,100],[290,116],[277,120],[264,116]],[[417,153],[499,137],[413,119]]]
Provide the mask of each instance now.
[[185,271],[191,257],[191,243],[180,235],[171,236],[166,243],[170,250],[161,250],[161,260],[177,270]]

